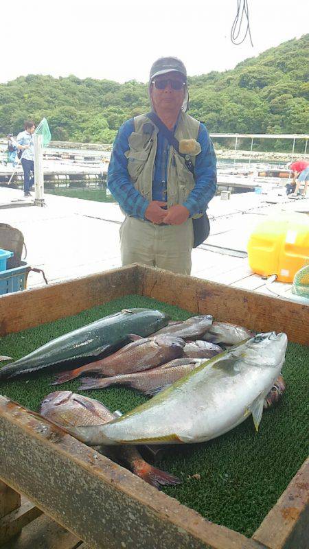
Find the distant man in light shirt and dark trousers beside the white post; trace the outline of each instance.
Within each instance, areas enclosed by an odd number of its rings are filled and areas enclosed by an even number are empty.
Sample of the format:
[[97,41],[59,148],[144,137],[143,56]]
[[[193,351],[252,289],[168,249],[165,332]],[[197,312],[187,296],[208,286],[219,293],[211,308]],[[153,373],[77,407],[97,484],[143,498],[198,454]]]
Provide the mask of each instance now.
[[[21,165],[23,166],[23,192],[25,196],[31,196],[30,191],[34,185],[34,142],[33,133],[36,127],[32,120],[25,120],[23,126],[25,131],[17,136],[17,148],[23,151],[21,154]],[[32,175],[30,176],[30,174]]]

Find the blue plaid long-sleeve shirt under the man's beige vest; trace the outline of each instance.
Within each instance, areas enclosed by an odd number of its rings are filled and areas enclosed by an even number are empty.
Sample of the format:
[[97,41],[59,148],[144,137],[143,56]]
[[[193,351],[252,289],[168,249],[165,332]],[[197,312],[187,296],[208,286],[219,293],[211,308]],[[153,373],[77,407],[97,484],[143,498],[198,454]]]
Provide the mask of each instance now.
[[[124,154],[130,148],[128,138],[133,131],[133,119],[127,120],[119,128],[113,144],[111,162],[108,166],[108,189],[110,189],[111,194],[127,215],[145,219],[145,211],[149,201],[141,196],[130,180],[128,159]],[[196,213],[205,211],[208,202],[216,193],[216,154],[204,124],[200,124],[197,141],[201,145],[201,152],[196,156],[194,167],[195,186],[187,200],[183,202],[183,206],[190,211],[191,217]],[[169,149],[168,140],[159,131],[157,135],[155,174],[152,181],[152,200],[167,201],[166,185]]]

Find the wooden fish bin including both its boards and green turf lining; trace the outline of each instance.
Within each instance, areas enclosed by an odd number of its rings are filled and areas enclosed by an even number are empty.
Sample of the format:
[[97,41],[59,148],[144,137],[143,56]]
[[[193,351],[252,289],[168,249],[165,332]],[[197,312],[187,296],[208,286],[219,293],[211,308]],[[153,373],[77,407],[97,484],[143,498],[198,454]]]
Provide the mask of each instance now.
[[[22,357],[130,307],[284,331],[282,401],[264,411],[258,433],[249,418],[207,443],[166,449],[156,465],[182,484],[160,492],[38,416],[52,375],[0,382],[0,545],[40,547],[45,536],[44,549],[62,548],[62,536],[66,549],[305,549],[308,307],[133,265],[0,297],[1,354]],[[122,386],[85,394],[121,412],[147,400]]]

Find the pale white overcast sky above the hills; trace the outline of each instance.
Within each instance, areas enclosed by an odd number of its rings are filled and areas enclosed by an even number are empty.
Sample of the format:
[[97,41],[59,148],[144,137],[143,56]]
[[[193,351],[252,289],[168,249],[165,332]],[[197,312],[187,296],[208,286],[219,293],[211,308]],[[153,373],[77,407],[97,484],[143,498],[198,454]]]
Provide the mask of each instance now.
[[146,82],[161,56],[190,76],[238,62],[309,32],[306,0],[248,0],[249,38],[233,45],[237,0],[14,0],[1,3],[0,82],[74,74]]

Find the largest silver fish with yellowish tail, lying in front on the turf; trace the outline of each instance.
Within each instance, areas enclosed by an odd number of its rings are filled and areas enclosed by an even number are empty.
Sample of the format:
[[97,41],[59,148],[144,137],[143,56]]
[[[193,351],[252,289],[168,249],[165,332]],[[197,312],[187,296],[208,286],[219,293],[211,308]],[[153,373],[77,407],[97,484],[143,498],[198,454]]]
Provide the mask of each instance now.
[[236,428],[251,414],[258,430],[287,343],[284,333],[258,334],[210,358],[122,417],[70,432],[88,444],[202,443]]

